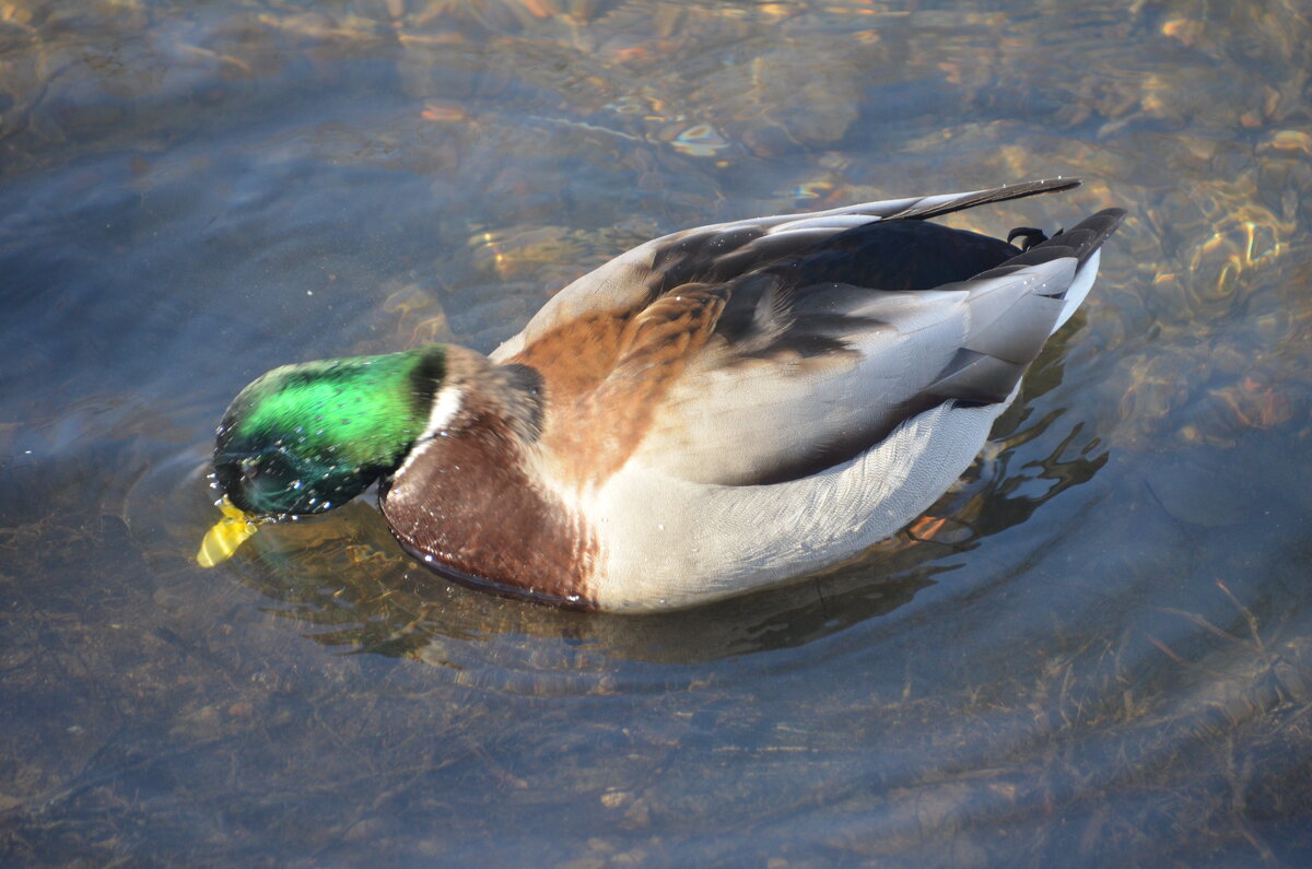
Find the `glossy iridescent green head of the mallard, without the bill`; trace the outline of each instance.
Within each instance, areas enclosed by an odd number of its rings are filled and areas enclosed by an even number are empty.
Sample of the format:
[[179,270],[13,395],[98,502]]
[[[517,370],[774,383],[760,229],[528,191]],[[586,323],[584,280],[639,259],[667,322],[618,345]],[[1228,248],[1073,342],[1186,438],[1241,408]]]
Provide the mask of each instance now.
[[438,345],[273,369],[223,415],[219,487],[256,516],[345,504],[404,461],[428,423],[445,358]]

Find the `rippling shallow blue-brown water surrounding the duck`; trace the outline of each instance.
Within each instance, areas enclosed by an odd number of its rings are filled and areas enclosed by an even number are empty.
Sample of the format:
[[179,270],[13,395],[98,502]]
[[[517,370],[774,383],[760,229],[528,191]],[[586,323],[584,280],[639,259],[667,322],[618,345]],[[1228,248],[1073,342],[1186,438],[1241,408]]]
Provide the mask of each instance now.
[[[0,3],[0,862],[1312,861],[1308,13],[1014,7]],[[1052,175],[956,223],[1130,217],[928,542],[651,618],[367,503],[192,562],[270,366]]]

